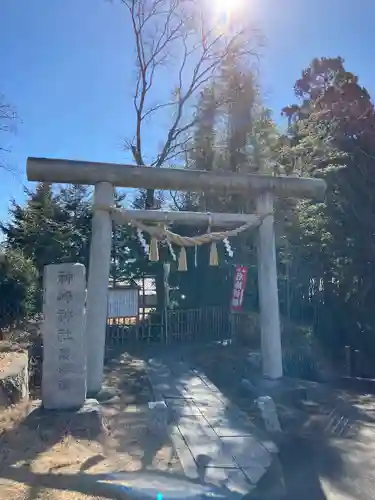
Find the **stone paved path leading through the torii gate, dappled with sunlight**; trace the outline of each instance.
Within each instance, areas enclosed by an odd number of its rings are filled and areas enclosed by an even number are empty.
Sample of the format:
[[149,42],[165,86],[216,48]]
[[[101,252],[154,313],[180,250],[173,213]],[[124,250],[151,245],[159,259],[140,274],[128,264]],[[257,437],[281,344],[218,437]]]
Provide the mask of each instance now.
[[156,400],[165,401],[172,440],[188,477],[243,495],[255,488],[277,451],[246,414],[184,361],[151,359]]

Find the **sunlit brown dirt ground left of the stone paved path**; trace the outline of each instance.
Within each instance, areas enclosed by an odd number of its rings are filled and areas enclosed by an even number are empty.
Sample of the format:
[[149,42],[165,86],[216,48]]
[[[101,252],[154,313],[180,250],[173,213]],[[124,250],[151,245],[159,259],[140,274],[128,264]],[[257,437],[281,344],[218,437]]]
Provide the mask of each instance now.
[[143,362],[126,354],[113,360],[105,386],[110,388],[102,404],[106,430],[99,436],[88,429],[77,438],[69,428],[54,428],[53,421],[28,425],[32,402],[0,412],[1,499],[114,498],[102,487],[106,474],[181,470],[171,443],[147,435],[152,396]]

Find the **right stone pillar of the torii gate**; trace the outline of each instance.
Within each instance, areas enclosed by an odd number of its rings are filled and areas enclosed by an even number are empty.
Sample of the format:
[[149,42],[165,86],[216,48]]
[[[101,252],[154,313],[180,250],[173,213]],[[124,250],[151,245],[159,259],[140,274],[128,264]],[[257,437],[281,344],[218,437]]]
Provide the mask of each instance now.
[[262,371],[268,379],[283,376],[273,200],[271,192],[256,199],[257,213],[266,215],[258,228],[257,256]]

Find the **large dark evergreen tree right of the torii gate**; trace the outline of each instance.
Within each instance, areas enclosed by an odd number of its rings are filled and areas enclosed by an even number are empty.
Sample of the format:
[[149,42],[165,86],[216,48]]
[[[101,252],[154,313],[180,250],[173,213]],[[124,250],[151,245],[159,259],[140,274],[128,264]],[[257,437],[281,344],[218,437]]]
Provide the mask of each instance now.
[[374,107],[342,58],[313,60],[295,93],[300,104],[283,110],[290,123],[284,161],[328,185],[324,204],[298,204],[291,251],[310,273],[299,299],[306,310],[314,303],[316,332],[333,352],[344,345],[372,352]]

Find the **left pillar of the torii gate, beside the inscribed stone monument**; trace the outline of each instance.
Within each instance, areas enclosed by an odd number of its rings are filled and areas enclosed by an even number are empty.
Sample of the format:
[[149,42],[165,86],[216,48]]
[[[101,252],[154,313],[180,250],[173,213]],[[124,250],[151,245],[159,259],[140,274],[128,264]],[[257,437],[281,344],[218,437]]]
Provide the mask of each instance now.
[[112,219],[106,210],[95,206],[113,205],[114,187],[108,182],[95,186],[94,215],[87,284],[86,352],[87,393],[100,391],[103,380],[107,291],[111,265]]

